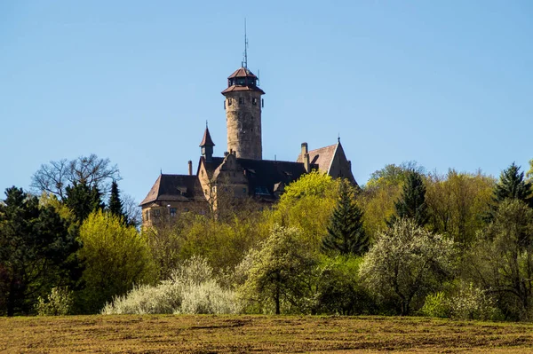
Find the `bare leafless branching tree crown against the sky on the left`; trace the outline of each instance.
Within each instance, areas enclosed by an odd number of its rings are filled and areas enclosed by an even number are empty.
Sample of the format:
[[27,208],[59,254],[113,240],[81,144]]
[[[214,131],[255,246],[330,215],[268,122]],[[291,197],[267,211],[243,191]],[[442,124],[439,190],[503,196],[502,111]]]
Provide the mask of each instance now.
[[41,165],[32,177],[31,186],[37,193],[52,193],[63,201],[67,187],[75,182],[107,192],[112,180],[120,180],[118,167],[111,165],[109,159],[100,159],[92,153],[70,161],[63,159]]

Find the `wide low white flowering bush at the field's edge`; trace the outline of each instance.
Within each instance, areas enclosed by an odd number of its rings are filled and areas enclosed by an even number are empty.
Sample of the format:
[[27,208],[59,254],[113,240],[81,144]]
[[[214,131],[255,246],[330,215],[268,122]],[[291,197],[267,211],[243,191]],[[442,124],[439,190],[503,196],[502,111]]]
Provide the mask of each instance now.
[[107,303],[102,314],[237,313],[235,292],[220,287],[207,261],[193,257],[159,285],[134,287]]

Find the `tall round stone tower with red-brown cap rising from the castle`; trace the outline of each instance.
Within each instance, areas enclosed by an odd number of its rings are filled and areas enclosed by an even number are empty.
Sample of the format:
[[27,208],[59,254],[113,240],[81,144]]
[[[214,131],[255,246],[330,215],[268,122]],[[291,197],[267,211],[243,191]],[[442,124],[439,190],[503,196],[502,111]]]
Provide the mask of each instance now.
[[227,151],[243,159],[262,160],[261,95],[258,77],[244,65],[227,78],[226,98]]

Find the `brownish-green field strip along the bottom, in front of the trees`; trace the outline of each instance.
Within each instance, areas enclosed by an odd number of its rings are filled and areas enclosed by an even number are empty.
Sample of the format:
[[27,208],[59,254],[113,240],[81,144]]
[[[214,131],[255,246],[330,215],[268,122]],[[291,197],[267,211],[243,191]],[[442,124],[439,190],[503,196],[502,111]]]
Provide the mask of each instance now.
[[70,316],[0,318],[7,353],[533,351],[533,324],[394,317]]

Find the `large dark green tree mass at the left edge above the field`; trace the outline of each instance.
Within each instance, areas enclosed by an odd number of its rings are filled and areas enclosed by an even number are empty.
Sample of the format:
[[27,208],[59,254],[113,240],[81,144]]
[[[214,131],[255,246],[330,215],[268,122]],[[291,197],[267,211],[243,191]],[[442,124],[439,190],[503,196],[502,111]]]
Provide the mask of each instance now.
[[52,206],[12,187],[0,203],[0,313],[27,314],[54,286],[76,285],[76,228]]

